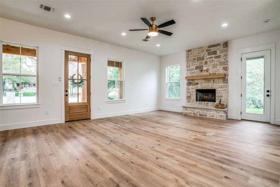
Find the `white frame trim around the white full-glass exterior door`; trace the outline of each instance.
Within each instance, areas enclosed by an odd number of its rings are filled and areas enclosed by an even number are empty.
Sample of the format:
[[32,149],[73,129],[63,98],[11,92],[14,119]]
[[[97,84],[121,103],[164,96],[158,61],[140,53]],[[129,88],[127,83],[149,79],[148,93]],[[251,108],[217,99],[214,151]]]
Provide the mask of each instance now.
[[270,50],[270,123],[275,124],[275,43],[246,47],[238,50],[238,91],[240,96],[238,97],[237,119],[241,120],[241,55],[245,53],[252,53],[262,50]]

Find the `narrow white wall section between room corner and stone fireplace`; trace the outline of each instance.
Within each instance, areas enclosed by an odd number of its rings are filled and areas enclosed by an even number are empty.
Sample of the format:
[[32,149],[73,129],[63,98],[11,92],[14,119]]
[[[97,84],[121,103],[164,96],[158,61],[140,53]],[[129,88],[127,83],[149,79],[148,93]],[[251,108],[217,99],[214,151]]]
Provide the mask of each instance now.
[[[166,100],[166,66],[180,64],[180,101]],[[160,57],[160,108],[173,112],[182,112],[182,105],[186,105],[186,51],[164,55]]]

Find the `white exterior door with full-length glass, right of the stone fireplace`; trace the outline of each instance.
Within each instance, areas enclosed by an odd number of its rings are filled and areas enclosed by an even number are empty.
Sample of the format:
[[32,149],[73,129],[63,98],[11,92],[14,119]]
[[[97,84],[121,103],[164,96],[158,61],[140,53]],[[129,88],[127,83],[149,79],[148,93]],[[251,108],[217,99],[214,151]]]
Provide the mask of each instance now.
[[241,119],[270,122],[270,50],[241,57]]

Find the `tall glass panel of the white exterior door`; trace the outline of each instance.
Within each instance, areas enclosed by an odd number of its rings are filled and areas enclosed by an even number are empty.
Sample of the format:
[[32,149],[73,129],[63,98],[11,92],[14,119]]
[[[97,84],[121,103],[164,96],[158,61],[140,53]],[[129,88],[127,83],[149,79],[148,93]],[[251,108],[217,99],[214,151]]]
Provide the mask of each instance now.
[[246,58],[246,113],[264,113],[264,56]]

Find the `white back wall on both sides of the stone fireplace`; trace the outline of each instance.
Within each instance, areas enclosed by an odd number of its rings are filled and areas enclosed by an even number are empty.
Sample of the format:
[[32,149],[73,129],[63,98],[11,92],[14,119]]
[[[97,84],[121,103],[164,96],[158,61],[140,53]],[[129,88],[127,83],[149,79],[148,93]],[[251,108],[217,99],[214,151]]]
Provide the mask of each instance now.
[[[237,119],[238,108],[238,49],[276,43],[275,55],[275,95],[280,95],[280,30],[266,32],[228,41],[228,117]],[[187,50],[187,49],[186,49]],[[186,69],[181,71],[181,101],[166,101],[165,98],[165,67],[172,64],[181,64],[186,68],[186,51],[161,56],[161,108],[181,112],[182,105],[186,104]],[[172,106],[173,103],[173,106]],[[280,124],[280,98],[275,98],[275,124]]]

